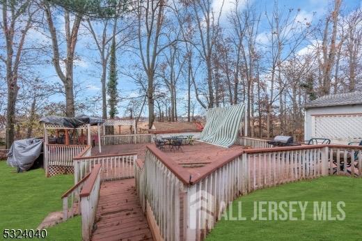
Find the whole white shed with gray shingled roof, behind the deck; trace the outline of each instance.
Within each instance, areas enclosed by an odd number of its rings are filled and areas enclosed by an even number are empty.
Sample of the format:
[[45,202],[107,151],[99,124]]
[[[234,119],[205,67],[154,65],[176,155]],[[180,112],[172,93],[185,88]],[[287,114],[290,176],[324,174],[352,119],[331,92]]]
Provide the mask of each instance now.
[[325,95],[305,105],[304,137],[347,144],[362,139],[362,92]]

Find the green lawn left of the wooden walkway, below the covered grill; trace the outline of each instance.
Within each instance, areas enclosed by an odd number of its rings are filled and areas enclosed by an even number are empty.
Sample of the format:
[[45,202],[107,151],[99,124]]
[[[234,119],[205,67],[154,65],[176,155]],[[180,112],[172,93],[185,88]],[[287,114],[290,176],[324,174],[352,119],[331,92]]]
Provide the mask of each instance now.
[[[45,178],[42,169],[16,173],[6,162],[0,162],[0,180],[1,238],[4,228],[36,228],[49,212],[60,211],[61,195],[74,182],[72,175]],[[80,217],[47,228],[47,240],[81,240]]]

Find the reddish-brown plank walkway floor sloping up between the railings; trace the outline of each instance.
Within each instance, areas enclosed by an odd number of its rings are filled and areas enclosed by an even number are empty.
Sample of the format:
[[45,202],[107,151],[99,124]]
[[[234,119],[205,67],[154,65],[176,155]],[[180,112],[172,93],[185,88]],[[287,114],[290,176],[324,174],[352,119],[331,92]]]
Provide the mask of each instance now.
[[92,240],[152,240],[134,178],[102,182]]

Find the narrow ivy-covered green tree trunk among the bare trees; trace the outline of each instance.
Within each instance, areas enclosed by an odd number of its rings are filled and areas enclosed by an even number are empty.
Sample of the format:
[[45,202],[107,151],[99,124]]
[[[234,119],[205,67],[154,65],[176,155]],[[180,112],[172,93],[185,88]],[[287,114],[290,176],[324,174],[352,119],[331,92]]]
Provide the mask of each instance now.
[[114,118],[117,111],[118,91],[117,91],[117,63],[116,63],[116,36],[113,37],[111,45],[111,59],[109,60],[109,81],[107,93],[109,95],[109,117]]

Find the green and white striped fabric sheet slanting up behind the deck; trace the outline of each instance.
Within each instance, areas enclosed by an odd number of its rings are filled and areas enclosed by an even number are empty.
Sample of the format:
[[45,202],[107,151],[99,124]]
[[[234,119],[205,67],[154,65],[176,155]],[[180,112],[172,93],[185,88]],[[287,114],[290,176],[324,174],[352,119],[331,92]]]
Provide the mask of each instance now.
[[245,104],[235,104],[230,107],[208,109],[206,125],[200,134],[200,140],[222,147],[233,146],[239,130]]

